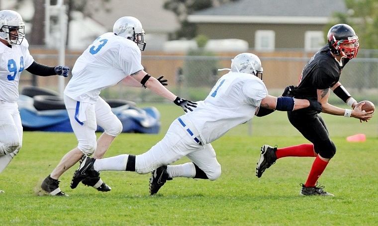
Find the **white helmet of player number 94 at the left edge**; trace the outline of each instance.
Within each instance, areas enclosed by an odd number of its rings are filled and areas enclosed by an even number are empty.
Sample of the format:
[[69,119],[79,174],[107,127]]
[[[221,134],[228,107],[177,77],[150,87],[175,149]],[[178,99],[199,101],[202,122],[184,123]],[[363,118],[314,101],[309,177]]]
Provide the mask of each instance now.
[[[25,24],[18,12],[13,10],[0,11],[0,39],[6,40],[9,45],[20,45],[25,36]],[[16,30],[13,34],[10,33]]]

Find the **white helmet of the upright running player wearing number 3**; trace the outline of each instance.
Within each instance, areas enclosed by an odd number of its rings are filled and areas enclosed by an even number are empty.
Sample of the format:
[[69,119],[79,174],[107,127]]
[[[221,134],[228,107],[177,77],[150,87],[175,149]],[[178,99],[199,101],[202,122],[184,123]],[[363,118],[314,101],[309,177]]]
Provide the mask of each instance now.
[[144,30],[140,21],[132,16],[124,16],[115,21],[113,33],[134,41],[140,50],[144,50],[146,42],[143,41]]

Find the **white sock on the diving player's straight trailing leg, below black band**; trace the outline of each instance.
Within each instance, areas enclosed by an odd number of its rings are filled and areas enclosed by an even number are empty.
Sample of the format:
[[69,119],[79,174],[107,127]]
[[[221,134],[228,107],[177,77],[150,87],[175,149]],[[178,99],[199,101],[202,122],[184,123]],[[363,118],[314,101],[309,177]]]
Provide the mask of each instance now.
[[126,170],[127,159],[129,158],[128,154],[120,154],[113,157],[96,159],[94,167],[96,171],[105,171],[105,170],[115,170],[115,171],[124,171]]

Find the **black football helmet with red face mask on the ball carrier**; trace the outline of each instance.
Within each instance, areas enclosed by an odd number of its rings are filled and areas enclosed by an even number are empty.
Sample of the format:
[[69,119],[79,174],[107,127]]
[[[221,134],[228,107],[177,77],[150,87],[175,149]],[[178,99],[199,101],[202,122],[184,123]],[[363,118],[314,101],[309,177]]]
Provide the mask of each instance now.
[[[335,55],[342,55],[345,58],[352,59],[357,56],[360,44],[358,36],[348,24],[336,24],[329,29],[327,34],[328,47]],[[350,44],[345,46],[345,44]]]

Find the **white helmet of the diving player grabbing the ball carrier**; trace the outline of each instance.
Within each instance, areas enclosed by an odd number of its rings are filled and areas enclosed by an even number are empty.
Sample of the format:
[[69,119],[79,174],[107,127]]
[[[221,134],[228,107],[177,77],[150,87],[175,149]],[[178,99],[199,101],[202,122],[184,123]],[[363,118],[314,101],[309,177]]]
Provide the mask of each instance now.
[[263,67],[258,56],[252,53],[241,53],[231,60],[231,72],[240,72],[256,75],[261,75],[263,80]]

